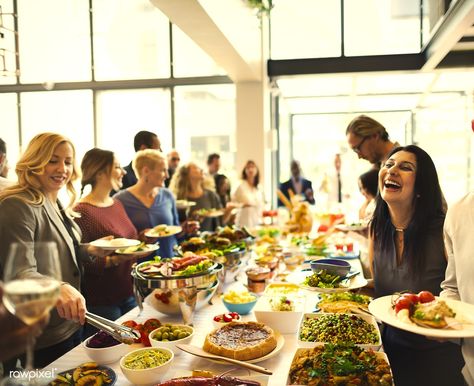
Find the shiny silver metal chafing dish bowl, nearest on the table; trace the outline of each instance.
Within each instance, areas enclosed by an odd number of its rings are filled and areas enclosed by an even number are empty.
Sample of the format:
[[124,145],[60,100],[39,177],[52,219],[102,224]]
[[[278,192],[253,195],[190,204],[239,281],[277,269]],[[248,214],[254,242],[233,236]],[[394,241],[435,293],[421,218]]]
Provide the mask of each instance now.
[[181,313],[185,324],[192,324],[194,311],[212,299],[222,277],[223,266],[216,263],[206,272],[190,276],[145,276],[140,266],[132,270],[134,293],[139,306],[145,301],[168,315]]

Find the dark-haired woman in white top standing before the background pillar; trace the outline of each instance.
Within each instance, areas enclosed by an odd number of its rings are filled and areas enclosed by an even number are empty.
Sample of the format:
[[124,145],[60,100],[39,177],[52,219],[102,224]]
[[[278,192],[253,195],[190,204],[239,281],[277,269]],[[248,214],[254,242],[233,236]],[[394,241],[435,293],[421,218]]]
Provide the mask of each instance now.
[[254,161],[249,160],[245,164],[242,180],[232,197],[232,201],[243,205],[237,213],[236,224],[254,227],[261,222],[265,203],[263,192],[258,188],[260,173]]

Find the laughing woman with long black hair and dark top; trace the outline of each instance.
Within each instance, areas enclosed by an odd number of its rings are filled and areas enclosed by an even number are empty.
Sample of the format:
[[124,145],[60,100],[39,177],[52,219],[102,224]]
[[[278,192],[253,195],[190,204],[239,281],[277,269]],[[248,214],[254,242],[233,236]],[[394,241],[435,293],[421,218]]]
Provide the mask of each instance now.
[[[447,261],[445,211],[435,165],[421,148],[394,149],[379,172],[369,229],[375,296],[400,291],[440,293]],[[384,325],[383,347],[397,386],[463,385],[459,345]]]

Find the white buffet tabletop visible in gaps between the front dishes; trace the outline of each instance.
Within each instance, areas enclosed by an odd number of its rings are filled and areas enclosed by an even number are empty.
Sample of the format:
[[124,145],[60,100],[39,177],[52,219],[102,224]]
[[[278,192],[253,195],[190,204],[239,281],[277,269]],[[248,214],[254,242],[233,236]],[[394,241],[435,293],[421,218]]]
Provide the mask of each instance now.
[[[360,270],[362,274],[362,267],[359,259],[352,259],[348,261],[351,263],[353,270]],[[227,285],[226,287],[227,288],[225,288],[225,290],[245,289],[241,282],[235,282]],[[306,294],[307,296],[305,296],[305,312],[313,312],[317,301],[317,292],[306,291],[305,295]],[[191,342],[192,345],[202,347],[206,334],[213,329],[212,318],[219,313],[224,313],[227,311],[224,305],[222,304],[219,296],[214,296],[212,302],[213,305],[206,305],[201,310],[196,311],[194,315],[193,325],[195,328],[195,336]],[[135,308],[126,315],[122,316],[120,319],[118,319],[118,322],[134,320],[140,323],[144,322],[146,319],[149,318],[158,318],[162,323],[182,323],[180,316],[164,315],[154,310],[147,304],[144,304],[143,312],[140,315],[139,309]],[[243,316],[243,320],[255,320],[253,312],[251,312],[249,315]],[[273,371],[273,375],[266,376],[255,372],[252,372],[252,374],[250,374],[252,376],[252,379],[258,380],[262,383],[262,385],[267,384],[270,386],[281,386],[283,384],[286,384],[286,379],[288,377],[288,371],[291,365],[291,361],[293,359],[293,355],[296,349],[298,348],[298,345],[296,334],[285,334],[283,335],[283,337],[285,339],[285,344],[281,351],[274,357],[267,359],[263,362],[257,363],[258,365]],[[133,350],[139,347],[142,347],[141,344],[134,344],[130,347],[130,349]],[[46,367],[46,369],[54,370],[55,374],[57,374],[61,371],[74,368],[88,361],[90,361],[90,359],[87,357],[82,345],[79,345],[61,358],[57,359],[55,362],[51,363],[49,366]],[[117,374],[116,385],[131,385],[131,383],[128,382],[128,380],[122,374],[118,361],[108,366],[111,367]],[[230,364],[217,364],[207,359],[202,359],[183,352],[181,355],[175,356],[170,369],[164,375],[162,380],[164,381],[174,377],[190,375],[190,371],[194,369],[210,370],[215,374],[220,374],[230,370],[231,368],[236,369],[235,372],[232,372],[230,374],[232,376],[249,375],[249,372],[245,369],[238,368]]]

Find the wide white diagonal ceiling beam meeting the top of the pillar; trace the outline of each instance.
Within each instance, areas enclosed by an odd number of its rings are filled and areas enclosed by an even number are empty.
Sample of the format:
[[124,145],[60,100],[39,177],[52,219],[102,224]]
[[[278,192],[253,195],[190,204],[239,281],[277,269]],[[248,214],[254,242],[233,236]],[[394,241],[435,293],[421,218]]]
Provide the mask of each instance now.
[[150,1],[234,82],[262,80],[260,20],[241,0]]

